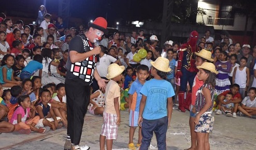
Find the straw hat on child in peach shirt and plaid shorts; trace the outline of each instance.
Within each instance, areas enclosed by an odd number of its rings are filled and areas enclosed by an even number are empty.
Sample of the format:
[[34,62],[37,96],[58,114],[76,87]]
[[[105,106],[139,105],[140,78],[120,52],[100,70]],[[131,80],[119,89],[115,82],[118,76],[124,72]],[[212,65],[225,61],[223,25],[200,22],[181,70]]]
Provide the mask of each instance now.
[[112,79],[120,75],[124,70],[124,66],[119,66],[116,63],[113,63],[108,66],[108,74],[106,76],[107,79]]

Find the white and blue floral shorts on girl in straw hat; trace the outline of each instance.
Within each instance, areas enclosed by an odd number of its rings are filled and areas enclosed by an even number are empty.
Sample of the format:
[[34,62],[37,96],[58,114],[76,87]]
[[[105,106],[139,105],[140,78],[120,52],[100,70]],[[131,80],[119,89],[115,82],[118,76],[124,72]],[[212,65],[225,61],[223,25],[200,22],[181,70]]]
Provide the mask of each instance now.
[[195,125],[195,132],[209,133],[214,127],[214,116],[211,112],[205,112],[199,118],[199,124]]

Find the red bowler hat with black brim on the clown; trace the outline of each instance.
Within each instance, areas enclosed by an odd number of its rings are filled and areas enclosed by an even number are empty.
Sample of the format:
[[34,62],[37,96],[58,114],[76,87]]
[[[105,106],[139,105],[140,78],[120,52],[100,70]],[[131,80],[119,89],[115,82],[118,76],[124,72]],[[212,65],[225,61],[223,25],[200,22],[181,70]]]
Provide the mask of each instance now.
[[91,22],[88,23],[88,27],[96,28],[99,31],[102,31],[104,33],[108,33],[107,25],[108,25],[107,20],[103,17],[98,17],[92,23]]

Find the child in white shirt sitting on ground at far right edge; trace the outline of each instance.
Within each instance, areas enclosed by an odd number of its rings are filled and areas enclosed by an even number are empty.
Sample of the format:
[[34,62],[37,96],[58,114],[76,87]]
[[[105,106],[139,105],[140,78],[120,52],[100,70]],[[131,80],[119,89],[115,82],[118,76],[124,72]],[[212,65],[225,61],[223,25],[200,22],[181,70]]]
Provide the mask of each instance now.
[[241,106],[238,106],[238,110],[241,112],[240,116],[249,116],[256,119],[256,87],[251,87],[248,95],[241,102]]

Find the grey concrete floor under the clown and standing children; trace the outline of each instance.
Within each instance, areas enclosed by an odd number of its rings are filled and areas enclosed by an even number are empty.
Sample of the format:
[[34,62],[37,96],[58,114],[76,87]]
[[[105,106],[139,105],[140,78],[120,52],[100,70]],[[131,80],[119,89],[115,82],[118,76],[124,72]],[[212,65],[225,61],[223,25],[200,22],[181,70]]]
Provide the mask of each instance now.
[[[99,149],[99,133],[103,117],[86,114],[80,144],[87,144],[92,150]],[[256,120],[248,117],[230,118],[215,115],[214,130],[210,133],[211,149],[256,149]],[[173,111],[170,127],[167,131],[167,149],[190,147],[189,112]],[[137,130],[137,129],[136,129]],[[137,131],[134,136],[137,142]],[[63,149],[66,128],[48,131],[44,134],[32,132],[29,135],[18,133],[0,134],[0,149]],[[129,142],[129,115],[121,111],[121,125],[118,139],[113,142],[113,149],[127,149]],[[152,145],[157,145],[155,137]]]

